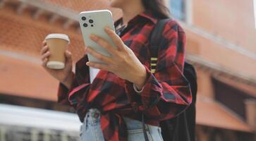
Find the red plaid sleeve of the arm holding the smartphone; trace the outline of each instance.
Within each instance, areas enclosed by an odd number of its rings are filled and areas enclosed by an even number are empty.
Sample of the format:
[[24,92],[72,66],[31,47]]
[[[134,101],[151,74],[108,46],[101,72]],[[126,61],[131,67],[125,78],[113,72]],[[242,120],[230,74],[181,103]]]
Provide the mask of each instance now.
[[192,101],[188,80],[183,75],[185,59],[185,32],[174,20],[164,27],[163,46],[159,47],[154,75],[147,70],[147,80],[138,94],[133,83],[126,80],[125,90],[136,111],[144,111],[149,119],[173,118],[185,110]]

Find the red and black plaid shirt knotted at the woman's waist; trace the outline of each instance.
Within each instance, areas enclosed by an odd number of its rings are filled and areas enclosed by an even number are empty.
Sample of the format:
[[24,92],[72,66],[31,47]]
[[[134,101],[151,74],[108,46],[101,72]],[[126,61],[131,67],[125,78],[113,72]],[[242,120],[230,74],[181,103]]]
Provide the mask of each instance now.
[[183,75],[185,32],[174,20],[164,27],[164,46],[159,47],[156,72],[150,73],[149,39],[158,20],[145,11],[118,32],[147,69],[146,84],[140,94],[133,89],[133,83],[107,71],[99,71],[90,84],[86,55],[75,65],[71,90],[59,85],[58,102],[74,106],[80,121],[90,108],[102,112],[105,140],[127,140],[123,116],[141,121],[143,111],[145,123],[159,125],[159,121],[177,116],[191,103],[190,85]]

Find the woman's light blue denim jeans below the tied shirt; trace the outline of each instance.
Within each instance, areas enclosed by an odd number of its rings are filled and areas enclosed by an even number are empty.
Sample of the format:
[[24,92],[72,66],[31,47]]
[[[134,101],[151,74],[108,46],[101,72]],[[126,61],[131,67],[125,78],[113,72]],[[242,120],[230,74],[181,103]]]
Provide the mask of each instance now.
[[[143,141],[145,140],[142,128],[142,122],[130,118],[124,118],[128,129],[128,141]],[[97,109],[90,109],[80,126],[81,141],[104,141],[102,128],[100,125],[100,112]],[[147,136],[150,141],[163,141],[161,137],[161,128],[154,125],[145,125]]]

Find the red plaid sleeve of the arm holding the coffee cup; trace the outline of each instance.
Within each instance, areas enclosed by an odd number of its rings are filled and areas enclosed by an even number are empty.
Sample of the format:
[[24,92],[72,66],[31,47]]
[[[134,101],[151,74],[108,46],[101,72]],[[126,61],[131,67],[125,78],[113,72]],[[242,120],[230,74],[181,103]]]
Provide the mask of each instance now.
[[68,90],[68,88],[63,85],[61,82],[59,83],[58,87],[58,102],[60,104],[67,104],[72,105],[70,102],[71,94],[75,94],[73,92],[80,85],[87,84],[90,85],[90,73],[89,73],[89,67],[85,65],[85,63],[88,61],[87,56],[83,56],[82,59],[80,59],[77,63],[75,63],[75,73],[73,73],[73,80],[71,83],[71,89]]

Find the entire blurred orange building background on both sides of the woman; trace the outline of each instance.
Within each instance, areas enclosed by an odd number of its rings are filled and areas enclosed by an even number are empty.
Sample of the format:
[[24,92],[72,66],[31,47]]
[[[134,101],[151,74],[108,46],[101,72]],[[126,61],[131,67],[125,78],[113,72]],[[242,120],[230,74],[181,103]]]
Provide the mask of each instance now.
[[[166,0],[187,35],[197,70],[197,141],[256,140],[256,1]],[[78,140],[73,109],[56,103],[58,84],[41,66],[49,33],[69,35],[84,53],[80,11],[121,11],[106,0],[0,0],[0,141]]]

